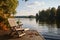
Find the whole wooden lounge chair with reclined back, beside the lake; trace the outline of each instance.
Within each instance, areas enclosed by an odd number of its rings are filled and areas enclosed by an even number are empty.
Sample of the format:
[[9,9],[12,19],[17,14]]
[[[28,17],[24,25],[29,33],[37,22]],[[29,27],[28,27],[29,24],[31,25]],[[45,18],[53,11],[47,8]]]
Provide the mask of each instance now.
[[18,37],[21,37],[26,34],[24,31],[29,30],[29,28],[27,29],[22,28],[22,24],[18,25],[14,18],[8,18],[8,22],[11,28],[10,35],[16,34],[18,35]]

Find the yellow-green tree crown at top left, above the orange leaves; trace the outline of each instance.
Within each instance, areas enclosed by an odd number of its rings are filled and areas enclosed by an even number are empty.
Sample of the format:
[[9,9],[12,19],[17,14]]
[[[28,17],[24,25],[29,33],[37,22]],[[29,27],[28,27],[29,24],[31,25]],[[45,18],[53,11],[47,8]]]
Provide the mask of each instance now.
[[18,0],[1,0],[0,1],[0,9],[3,10],[4,13],[13,14],[18,5]]

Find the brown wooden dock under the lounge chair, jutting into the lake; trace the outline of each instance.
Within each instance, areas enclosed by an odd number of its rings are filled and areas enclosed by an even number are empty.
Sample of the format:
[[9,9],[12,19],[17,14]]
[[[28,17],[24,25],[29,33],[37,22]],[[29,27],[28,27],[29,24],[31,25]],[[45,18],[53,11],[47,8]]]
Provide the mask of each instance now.
[[20,38],[11,37],[11,38],[2,38],[3,40],[45,40],[37,31],[28,30],[26,34]]

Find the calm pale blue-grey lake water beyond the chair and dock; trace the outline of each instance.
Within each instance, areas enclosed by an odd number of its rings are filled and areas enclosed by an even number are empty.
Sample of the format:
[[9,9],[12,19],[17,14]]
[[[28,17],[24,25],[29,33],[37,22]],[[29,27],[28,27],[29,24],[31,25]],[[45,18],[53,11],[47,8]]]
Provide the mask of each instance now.
[[36,22],[35,18],[16,18],[20,19],[24,28],[37,30],[46,40],[60,40],[60,28],[56,24],[46,24]]

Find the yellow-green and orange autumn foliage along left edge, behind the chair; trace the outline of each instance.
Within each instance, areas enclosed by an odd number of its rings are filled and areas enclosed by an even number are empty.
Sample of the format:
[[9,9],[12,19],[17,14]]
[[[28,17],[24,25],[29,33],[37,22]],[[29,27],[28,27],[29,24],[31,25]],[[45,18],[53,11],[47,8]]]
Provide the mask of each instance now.
[[0,0],[0,22],[9,27],[7,18],[11,14],[16,13],[16,7],[18,6],[18,0]]

